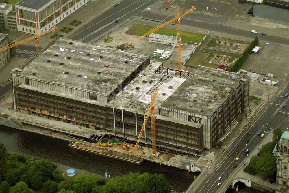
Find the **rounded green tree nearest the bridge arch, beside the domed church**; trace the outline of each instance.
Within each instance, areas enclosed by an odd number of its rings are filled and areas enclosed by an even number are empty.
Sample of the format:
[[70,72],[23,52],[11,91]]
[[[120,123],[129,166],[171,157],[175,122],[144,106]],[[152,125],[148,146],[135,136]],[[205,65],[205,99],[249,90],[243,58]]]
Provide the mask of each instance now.
[[275,175],[276,159],[272,153],[264,153],[256,163],[256,172],[262,177]]

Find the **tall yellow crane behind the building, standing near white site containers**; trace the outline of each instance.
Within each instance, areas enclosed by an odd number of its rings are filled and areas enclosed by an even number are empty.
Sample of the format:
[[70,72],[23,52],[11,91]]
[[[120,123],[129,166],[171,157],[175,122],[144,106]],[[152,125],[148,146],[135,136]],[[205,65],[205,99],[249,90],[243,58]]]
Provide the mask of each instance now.
[[[184,15],[186,15],[186,14],[188,14],[188,13],[193,12],[195,9],[196,9],[196,7],[192,6],[192,8],[191,8],[190,10],[187,10],[186,12],[184,12],[184,13],[182,13],[182,14],[180,15],[179,8],[177,8],[177,10],[175,10],[175,11],[177,11],[177,17],[175,17],[175,18],[167,21],[166,23],[164,23],[164,24],[162,24],[162,25],[160,25],[160,26],[157,25],[157,26],[154,27],[151,31],[149,31],[149,32],[145,33],[144,35],[142,35],[142,36],[140,36],[140,37],[132,40],[131,42],[129,42],[129,43],[127,43],[127,44],[125,44],[124,47],[126,48],[126,47],[130,46],[131,44],[137,42],[138,40],[146,37],[147,35],[150,35],[151,33],[155,32],[155,31],[158,31],[159,29],[163,28],[164,26],[166,26],[166,25],[168,25],[168,24],[170,24],[170,23],[172,23],[172,22],[174,22],[174,21],[177,21],[177,33],[178,33],[178,35],[177,35],[177,36],[178,36],[178,37],[177,37],[178,70],[181,70],[181,66],[182,66],[182,63],[181,63],[181,17],[183,17]],[[175,11],[174,11],[174,12],[175,12]],[[174,13],[174,12],[173,12],[173,13]],[[171,14],[173,14],[173,13],[171,13]],[[170,14],[169,16],[171,16],[171,14]],[[169,17],[169,16],[168,16],[168,17]],[[166,17],[166,18],[168,18],[168,17]],[[165,18],[164,20],[166,20],[166,18]],[[164,20],[162,20],[162,22],[164,22]]]

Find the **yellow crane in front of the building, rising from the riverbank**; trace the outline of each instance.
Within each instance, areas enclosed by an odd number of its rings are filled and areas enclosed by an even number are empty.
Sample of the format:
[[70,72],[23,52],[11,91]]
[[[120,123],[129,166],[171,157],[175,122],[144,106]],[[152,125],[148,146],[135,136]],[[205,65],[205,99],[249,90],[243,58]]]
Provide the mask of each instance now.
[[144,118],[144,123],[142,124],[142,129],[140,130],[140,134],[138,134],[138,140],[136,141],[136,145],[134,146],[134,149],[138,149],[138,143],[140,142],[140,138],[142,137],[144,127],[147,124],[147,120],[149,119],[149,116],[151,115],[151,140],[153,144],[153,151],[152,151],[153,154],[157,152],[157,143],[155,139],[155,107],[153,106],[153,104],[155,102],[155,98],[158,95],[158,91],[159,89],[155,88],[155,92],[151,95],[151,103],[149,105],[149,108],[147,108],[146,116]]

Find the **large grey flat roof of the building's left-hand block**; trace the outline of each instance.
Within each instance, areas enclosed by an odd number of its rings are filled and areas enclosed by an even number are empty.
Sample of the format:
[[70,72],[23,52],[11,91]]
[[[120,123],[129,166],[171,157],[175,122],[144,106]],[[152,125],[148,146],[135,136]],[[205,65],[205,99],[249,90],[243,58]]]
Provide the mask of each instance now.
[[27,61],[16,74],[108,95],[148,58],[138,53],[58,38]]

